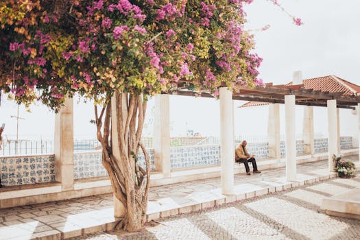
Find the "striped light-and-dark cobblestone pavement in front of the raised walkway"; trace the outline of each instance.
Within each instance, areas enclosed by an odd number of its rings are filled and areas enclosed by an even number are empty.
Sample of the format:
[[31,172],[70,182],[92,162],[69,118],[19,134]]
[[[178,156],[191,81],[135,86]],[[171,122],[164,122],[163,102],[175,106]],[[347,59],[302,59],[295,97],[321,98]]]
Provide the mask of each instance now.
[[359,220],[331,217],[320,209],[324,197],[359,186],[360,175],[325,180],[158,219],[141,232],[98,232],[75,239],[360,239]]

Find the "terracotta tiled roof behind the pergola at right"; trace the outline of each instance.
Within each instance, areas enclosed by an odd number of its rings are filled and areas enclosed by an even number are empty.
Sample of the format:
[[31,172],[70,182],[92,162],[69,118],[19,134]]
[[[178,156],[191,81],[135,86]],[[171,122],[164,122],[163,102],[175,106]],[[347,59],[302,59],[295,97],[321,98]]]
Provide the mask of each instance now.
[[[330,93],[344,93],[344,95],[360,95],[360,86],[352,84],[346,80],[336,77],[334,75],[328,75],[325,77],[309,78],[302,81],[303,87],[306,90],[312,89],[313,91],[322,91]],[[292,85],[292,82],[286,84]],[[239,106],[239,108],[262,106],[269,103],[259,101],[248,101],[245,104]]]

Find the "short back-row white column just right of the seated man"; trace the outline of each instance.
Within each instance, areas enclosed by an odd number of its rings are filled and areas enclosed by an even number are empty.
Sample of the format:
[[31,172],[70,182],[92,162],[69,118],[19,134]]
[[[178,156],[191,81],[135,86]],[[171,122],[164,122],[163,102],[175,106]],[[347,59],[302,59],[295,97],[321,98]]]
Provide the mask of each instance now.
[[280,158],[280,104],[269,105],[267,141],[269,143],[269,158]]

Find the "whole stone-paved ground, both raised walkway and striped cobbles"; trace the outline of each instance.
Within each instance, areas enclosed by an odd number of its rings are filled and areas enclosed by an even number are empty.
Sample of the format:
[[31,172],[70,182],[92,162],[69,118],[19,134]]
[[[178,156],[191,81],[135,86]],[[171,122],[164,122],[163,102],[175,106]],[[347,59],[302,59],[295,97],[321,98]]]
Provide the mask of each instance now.
[[152,187],[150,219],[185,214],[132,234],[86,235],[114,228],[110,194],[0,209],[0,239],[359,239],[360,221],[329,217],[319,205],[322,197],[358,187],[360,177],[318,182],[329,178],[326,169],[326,160],[298,165],[298,181],[292,183],[283,177],[285,168],[239,174],[231,196],[221,195],[219,178]]

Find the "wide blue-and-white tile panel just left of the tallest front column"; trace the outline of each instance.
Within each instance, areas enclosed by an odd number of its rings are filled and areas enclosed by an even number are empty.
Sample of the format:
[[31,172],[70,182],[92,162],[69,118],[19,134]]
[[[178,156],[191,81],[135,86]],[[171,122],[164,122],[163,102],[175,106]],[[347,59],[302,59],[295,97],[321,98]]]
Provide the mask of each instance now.
[[220,146],[171,147],[170,163],[171,169],[219,164]]

